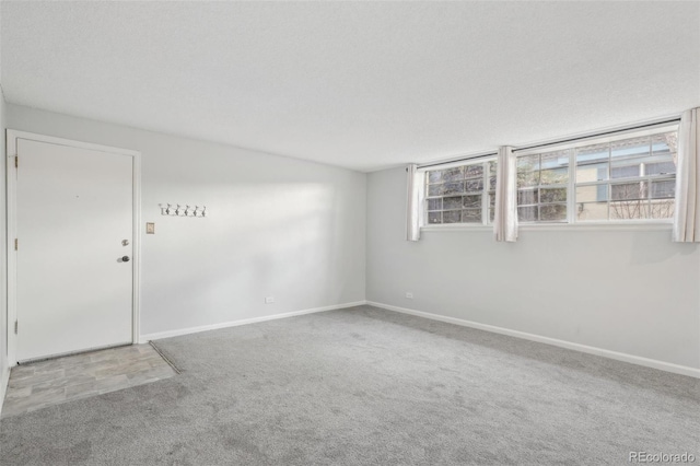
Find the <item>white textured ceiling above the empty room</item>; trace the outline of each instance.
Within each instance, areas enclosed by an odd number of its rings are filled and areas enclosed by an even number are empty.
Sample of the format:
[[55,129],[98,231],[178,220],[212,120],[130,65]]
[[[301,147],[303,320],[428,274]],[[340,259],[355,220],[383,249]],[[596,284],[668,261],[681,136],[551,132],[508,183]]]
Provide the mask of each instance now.
[[359,171],[700,105],[700,2],[2,2],[5,100]]

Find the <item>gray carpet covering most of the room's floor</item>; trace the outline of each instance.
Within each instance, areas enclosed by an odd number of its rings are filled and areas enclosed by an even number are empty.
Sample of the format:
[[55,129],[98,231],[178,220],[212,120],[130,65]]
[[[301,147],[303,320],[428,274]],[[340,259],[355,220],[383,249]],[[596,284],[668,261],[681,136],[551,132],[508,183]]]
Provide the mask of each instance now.
[[372,307],[159,340],[175,377],[0,421],[3,465],[700,462],[700,381]]

